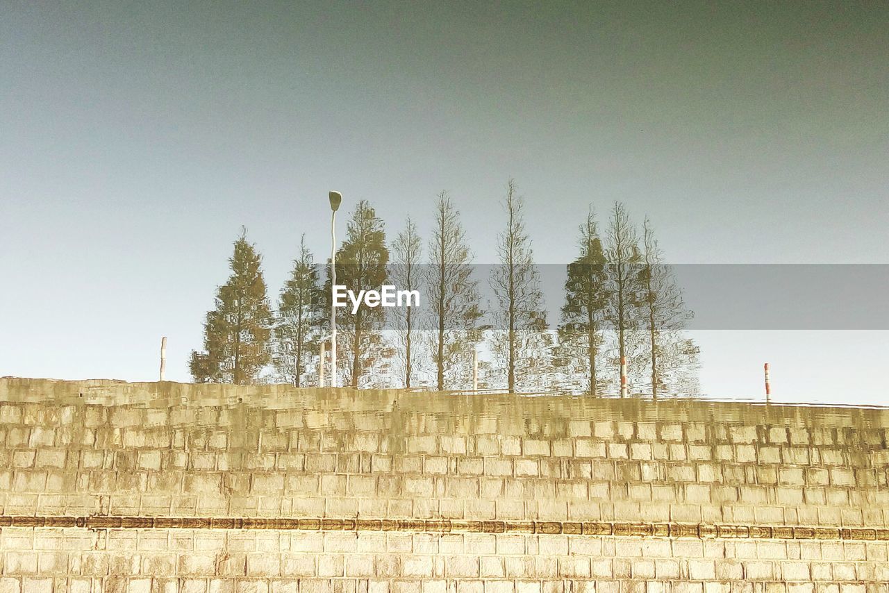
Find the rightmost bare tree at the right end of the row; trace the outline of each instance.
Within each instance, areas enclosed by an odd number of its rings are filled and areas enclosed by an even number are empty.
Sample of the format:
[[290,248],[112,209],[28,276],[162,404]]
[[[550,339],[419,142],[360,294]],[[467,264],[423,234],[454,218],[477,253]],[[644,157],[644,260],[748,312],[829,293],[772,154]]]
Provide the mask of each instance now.
[[638,304],[644,311],[642,321],[648,333],[652,397],[657,398],[658,390],[666,387],[669,370],[694,365],[698,349],[681,334],[685,322],[693,317],[693,313],[685,309],[682,290],[672,268],[663,258],[647,217],[643,224],[642,257]]

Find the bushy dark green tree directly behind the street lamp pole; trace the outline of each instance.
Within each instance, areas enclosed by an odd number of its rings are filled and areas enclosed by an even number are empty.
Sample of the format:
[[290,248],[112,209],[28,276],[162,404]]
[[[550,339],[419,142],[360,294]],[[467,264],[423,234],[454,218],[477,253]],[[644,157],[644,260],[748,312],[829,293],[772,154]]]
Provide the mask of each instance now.
[[[380,286],[386,282],[387,265],[388,248],[383,221],[377,217],[371,205],[362,200],[356,205],[355,212],[348,221],[346,240],[337,252],[337,284],[345,286],[356,295],[359,291],[379,291]],[[329,262],[327,268],[325,292],[330,300],[332,292]],[[372,365],[386,363],[388,349],[384,352],[380,348],[380,327],[385,319],[383,311],[381,307],[362,305],[353,314],[351,303],[337,310],[338,348],[349,353],[349,357],[342,358],[343,370],[349,384],[355,389],[361,384],[362,375],[367,369]]]

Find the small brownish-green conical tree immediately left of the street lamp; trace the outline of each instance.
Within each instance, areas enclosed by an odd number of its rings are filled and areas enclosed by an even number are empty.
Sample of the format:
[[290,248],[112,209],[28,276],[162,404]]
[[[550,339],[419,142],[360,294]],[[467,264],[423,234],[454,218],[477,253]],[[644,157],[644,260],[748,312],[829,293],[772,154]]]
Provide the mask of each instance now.
[[[306,236],[300,240],[300,253],[293,260],[290,279],[278,301],[275,327],[275,367],[278,376],[295,387],[303,387],[307,365],[316,357],[324,335],[324,292]],[[323,361],[319,362],[319,365]],[[317,373],[311,373],[317,384]]]

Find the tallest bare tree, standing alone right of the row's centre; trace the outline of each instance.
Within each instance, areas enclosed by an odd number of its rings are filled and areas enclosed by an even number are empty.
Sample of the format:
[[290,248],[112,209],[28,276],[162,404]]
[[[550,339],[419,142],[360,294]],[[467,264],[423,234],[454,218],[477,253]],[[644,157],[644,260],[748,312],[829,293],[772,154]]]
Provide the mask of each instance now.
[[[516,390],[519,350],[533,338],[533,334],[539,336],[544,332],[547,322],[531,239],[525,231],[524,203],[517,194],[516,181],[510,179],[506,190],[503,208],[507,214],[507,227],[500,235],[500,263],[493,270],[491,287],[500,303],[500,317],[506,329],[507,389],[513,392]],[[532,355],[531,352],[525,354]],[[525,365],[533,365],[533,361],[525,360]]]

